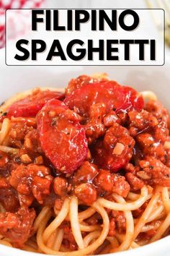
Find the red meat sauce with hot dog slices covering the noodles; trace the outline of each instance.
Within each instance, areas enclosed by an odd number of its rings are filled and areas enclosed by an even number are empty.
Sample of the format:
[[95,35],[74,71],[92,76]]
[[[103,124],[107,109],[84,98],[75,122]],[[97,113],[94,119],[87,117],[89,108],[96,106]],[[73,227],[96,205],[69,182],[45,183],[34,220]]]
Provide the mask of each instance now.
[[[170,152],[164,148],[169,114],[157,101],[144,106],[132,88],[81,76],[69,82],[65,95],[37,91],[13,103],[6,116],[8,146],[18,153],[0,152],[0,203],[6,210],[0,233],[15,247],[34,234],[44,205],[61,210],[64,198],[76,195],[84,209],[97,197],[113,200],[112,192],[127,197],[144,184],[170,187]],[[109,236],[125,231],[124,213],[108,215]],[[95,225],[101,218],[95,213],[86,221]],[[66,246],[76,249],[68,223],[62,225]]]

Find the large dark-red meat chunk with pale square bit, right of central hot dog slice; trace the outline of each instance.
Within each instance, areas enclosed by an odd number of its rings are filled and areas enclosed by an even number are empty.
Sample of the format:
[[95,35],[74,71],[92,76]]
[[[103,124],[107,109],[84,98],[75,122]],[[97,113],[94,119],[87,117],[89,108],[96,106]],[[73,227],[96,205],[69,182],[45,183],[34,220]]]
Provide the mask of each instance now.
[[98,140],[91,147],[91,155],[101,168],[116,172],[130,161],[134,145],[128,129],[115,123],[107,130],[104,140]]

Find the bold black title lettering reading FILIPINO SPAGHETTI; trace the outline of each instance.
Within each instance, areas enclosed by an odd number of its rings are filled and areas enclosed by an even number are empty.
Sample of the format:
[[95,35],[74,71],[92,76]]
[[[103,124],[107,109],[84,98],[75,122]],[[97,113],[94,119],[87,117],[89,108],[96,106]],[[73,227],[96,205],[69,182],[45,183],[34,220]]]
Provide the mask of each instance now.
[[[36,33],[39,30],[46,32],[55,32],[56,38],[53,38],[52,43],[45,39],[19,39],[16,43],[16,48],[19,51],[14,56],[18,61],[26,61],[31,59],[37,61],[39,54],[45,54],[46,61],[56,63],[60,61],[72,60],[81,61],[86,58],[87,61],[97,59],[97,61],[119,61],[122,58],[124,61],[130,61],[130,52],[133,51],[133,46],[138,46],[138,60],[145,60],[146,46],[147,56],[151,61],[156,60],[156,40],[146,38],[135,38],[136,31],[140,27],[140,19],[138,13],[132,9],[121,10],[117,14],[117,10],[104,9],[68,9],[62,14],[65,14],[65,19],[61,22],[61,9],[34,9],[32,10],[32,32]],[[133,22],[126,22],[127,17]],[[63,22],[64,20],[64,22]],[[89,38],[84,39],[84,30],[88,25]],[[86,27],[85,27],[86,26]],[[112,32],[112,38],[95,38],[93,33],[105,33],[105,30]],[[124,33],[134,33],[134,38],[120,39],[115,38],[114,33],[123,30]],[[80,37],[77,36],[77,31],[80,32]],[[109,32],[110,32],[109,31]],[[61,33],[75,33],[75,36],[68,38],[68,42],[63,43]],[[63,35],[63,34],[62,34]],[[74,34],[73,34],[74,35]],[[91,36],[90,36],[91,35]],[[104,35],[104,34],[103,34]],[[109,33],[110,35],[110,33]],[[116,34],[119,35],[119,34]],[[132,37],[132,34],[131,34]],[[127,38],[127,37],[126,37]],[[120,47],[123,46],[123,54],[119,56]],[[61,62],[60,62],[61,63]]]

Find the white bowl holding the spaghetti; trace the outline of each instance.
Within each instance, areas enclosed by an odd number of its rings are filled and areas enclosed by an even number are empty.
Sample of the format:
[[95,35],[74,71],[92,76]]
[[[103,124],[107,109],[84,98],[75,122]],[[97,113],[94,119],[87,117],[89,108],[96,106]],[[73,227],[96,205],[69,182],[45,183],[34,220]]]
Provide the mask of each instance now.
[[[14,93],[30,88],[66,87],[72,77],[80,74],[107,72],[109,77],[138,91],[153,90],[164,106],[169,108],[170,63],[161,67],[8,67],[4,64],[4,50],[0,51],[0,101]],[[114,256],[169,256],[170,236],[146,246],[110,254]],[[0,245],[0,256],[42,256]]]

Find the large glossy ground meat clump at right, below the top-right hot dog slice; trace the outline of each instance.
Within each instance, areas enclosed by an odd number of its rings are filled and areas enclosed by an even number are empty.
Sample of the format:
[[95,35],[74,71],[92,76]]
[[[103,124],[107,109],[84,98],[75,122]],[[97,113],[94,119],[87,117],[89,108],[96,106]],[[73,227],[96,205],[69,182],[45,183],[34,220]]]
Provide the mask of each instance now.
[[130,135],[135,137],[143,155],[151,155],[164,161],[164,142],[169,135],[166,122],[145,110],[140,113],[130,111],[128,115]]

